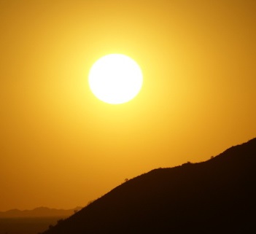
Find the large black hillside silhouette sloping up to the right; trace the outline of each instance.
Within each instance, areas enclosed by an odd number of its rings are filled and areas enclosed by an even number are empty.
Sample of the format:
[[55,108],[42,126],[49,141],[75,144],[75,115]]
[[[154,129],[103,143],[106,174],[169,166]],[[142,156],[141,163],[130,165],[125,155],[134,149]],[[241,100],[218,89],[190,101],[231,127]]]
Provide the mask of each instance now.
[[255,233],[256,139],[121,184],[44,234]]

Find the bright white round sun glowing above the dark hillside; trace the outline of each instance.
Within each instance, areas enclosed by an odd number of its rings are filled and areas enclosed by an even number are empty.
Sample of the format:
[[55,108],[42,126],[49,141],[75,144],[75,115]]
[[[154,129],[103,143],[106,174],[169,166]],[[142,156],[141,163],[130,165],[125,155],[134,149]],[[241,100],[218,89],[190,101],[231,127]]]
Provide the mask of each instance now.
[[131,101],[141,90],[143,75],[132,58],[121,54],[101,57],[89,72],[90,90],[107,104]]

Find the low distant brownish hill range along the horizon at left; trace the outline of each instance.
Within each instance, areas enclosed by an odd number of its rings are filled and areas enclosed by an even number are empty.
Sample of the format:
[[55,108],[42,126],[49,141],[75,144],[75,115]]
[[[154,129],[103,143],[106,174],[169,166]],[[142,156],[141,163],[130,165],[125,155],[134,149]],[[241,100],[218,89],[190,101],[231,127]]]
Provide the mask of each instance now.
[[18,209],[12,209],[9,211],[0,211],[0,218],[26,218],[26,217],[69,217],[74,214],[74,211],[79,211],[81,207],[73,209],[57,209],[38,207],[33,210],[20,211]]

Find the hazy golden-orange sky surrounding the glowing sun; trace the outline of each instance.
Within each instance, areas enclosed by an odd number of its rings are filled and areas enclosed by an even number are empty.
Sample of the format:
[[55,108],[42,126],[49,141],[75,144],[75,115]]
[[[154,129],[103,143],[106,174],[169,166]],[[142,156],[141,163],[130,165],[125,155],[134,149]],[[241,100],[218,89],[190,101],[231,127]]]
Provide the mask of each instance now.
[[[0,211],[85,206],[141,173],[256,136],[255,0],[1,0]],[[131,56],[127,104],[88,71]]]

